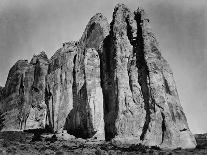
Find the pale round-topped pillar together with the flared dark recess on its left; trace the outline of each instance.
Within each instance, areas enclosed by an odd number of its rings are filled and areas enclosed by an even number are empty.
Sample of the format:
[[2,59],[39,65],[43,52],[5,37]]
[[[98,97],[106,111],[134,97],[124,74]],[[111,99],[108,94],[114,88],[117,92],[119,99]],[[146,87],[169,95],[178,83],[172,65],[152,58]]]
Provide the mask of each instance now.
[[77,137],[105,139],[100,59],[95,49],[84,53],[75,60],[73,109],[66,129]]

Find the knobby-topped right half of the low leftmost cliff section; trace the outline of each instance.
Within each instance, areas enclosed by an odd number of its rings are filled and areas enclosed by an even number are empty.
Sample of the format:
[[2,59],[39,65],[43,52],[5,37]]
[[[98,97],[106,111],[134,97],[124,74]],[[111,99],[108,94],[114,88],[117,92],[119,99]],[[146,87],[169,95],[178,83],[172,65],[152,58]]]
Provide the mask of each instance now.
[[[25,109],[28,109],[29,106],[30,109],[26,112],[28,118],[26,119],[24,130],[44,128],[46,125],[47,107],[45,104],[45,76],[47,75],[49,60],[47,55],[42,52],[34,56],[30,64],[32,67],[28,68],[25,73]],[[31,77],[31,75],[33,75],[33,77]],[[32,79],[33,83],[30,85]]]

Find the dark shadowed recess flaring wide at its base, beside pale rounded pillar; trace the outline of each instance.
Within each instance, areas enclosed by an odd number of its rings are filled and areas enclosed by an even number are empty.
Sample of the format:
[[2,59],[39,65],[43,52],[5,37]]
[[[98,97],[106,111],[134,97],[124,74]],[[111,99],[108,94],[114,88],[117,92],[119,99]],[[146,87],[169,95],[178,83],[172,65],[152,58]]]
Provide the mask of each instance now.
[[[85,49],[83,49],[85,50]],[[80,51],[84,52],[85,51]],[[90,113],[90,108],[88,107],[88,98],[87,98],[87,86],[86,86],[86,75],[85,70],[82,68],[84,66],[84,53],[76,55],[73,59],[74,68],[73,68],[73,84],[72,84],[72,95],[73,95],[73,108],[66,118],[64,128],[68,131],[69,134],[74,135],[77,138],[91,138],[95,135],[96,131],[93,129],[92,116]],[[78,57],[80,56],[80,57]],[[80,63],[80,64],[77,64]],[[80,67],[80,68],[76,68]],[[77,82],[80,82],[80,79],[76,79],[78,72],[81,75],[84,74],[84,84],[80,85]]]

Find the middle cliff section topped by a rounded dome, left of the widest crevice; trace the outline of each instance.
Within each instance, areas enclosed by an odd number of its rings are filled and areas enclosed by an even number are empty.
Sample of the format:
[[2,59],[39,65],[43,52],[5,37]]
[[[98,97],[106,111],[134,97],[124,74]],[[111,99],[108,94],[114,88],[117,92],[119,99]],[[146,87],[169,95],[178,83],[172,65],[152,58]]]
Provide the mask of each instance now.
[[79,42],[64,44],[51,58],[46,99],[48,123],[54,132],[66,129],[77,137],[105,139],[100,59],[96,50],[101,51],[107,32],[106,18],[96,14]]

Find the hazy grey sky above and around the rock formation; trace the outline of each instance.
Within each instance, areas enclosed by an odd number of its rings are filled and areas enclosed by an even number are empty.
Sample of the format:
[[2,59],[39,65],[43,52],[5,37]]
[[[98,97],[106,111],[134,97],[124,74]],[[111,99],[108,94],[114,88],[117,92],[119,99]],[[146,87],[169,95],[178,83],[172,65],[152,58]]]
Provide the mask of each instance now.
[[111,22],[114,6],[144,8],[169,62],[193,133],[207,133],[206,0],[1,0],[0,85],[19,59],[81,37],[88,21],[102,13]]

